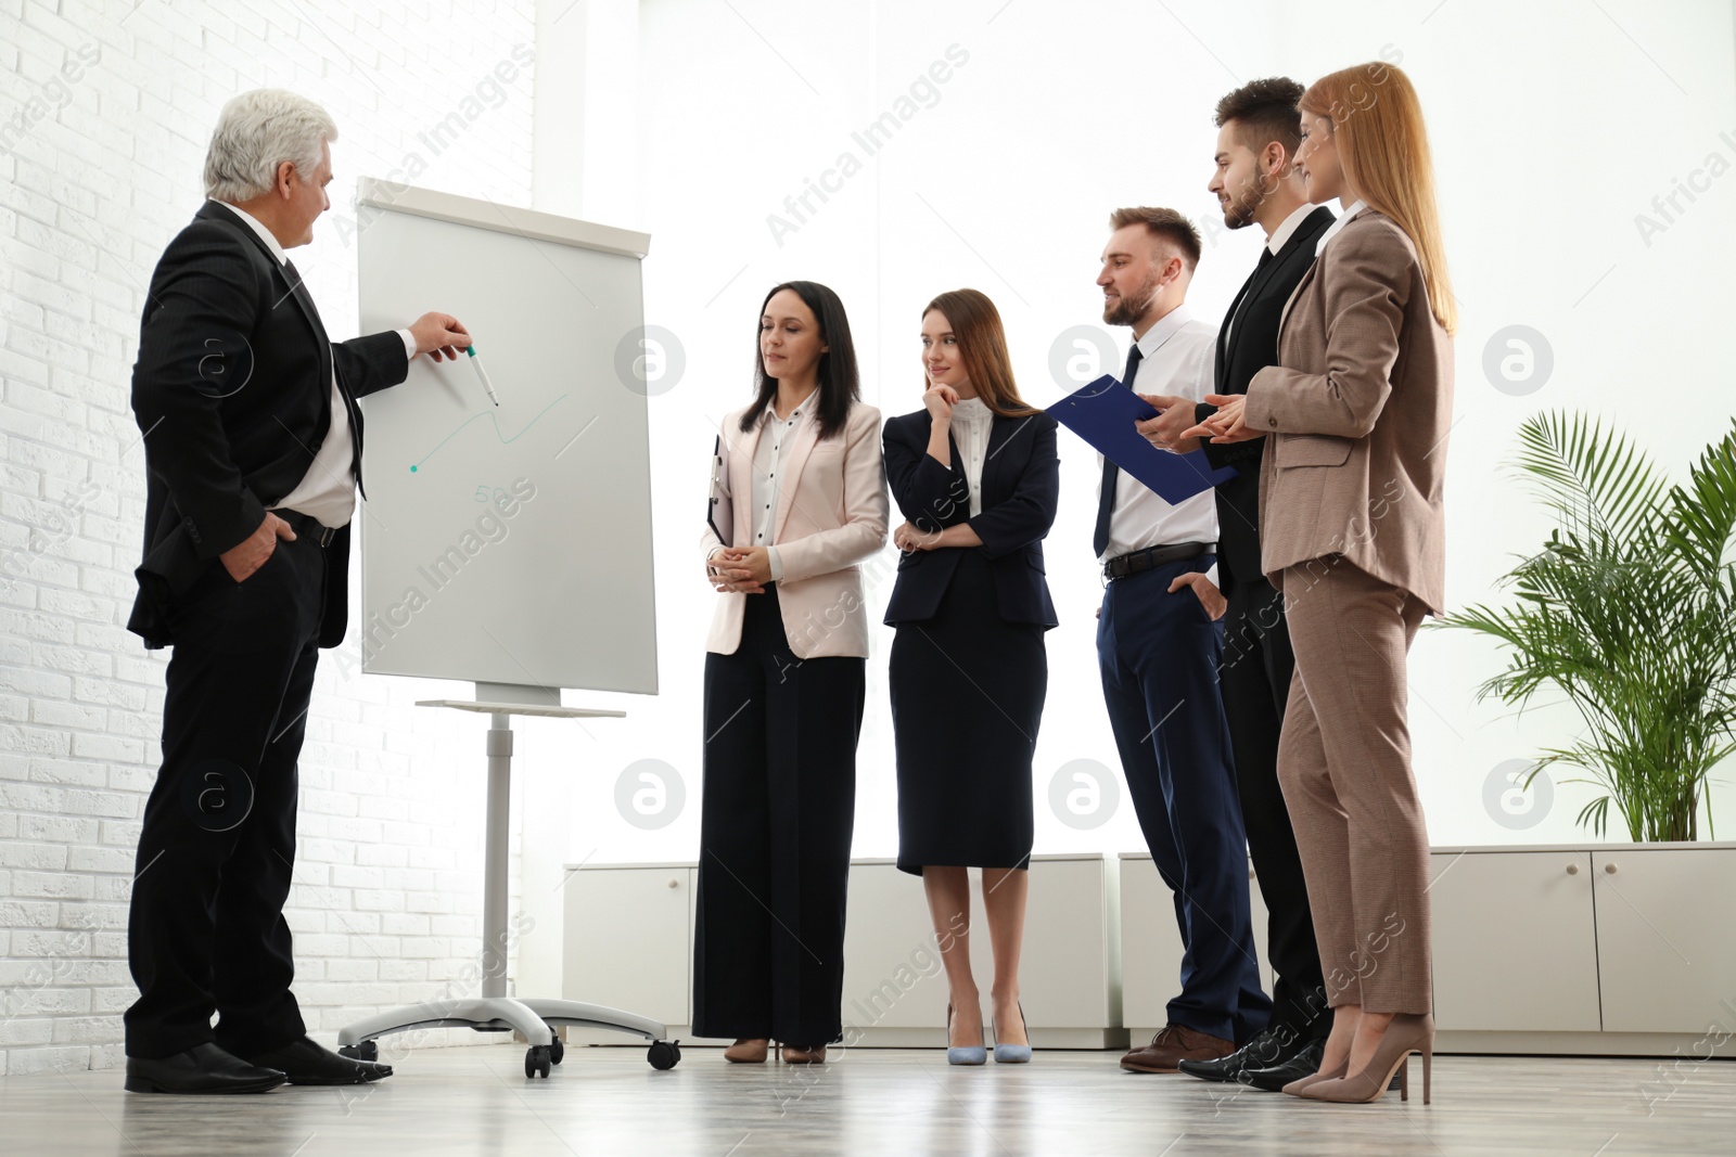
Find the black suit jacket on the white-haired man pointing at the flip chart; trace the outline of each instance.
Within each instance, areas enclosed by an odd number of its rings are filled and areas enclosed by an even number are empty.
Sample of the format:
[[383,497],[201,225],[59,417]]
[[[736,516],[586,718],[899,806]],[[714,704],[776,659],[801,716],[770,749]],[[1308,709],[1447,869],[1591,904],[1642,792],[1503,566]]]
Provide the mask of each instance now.
[[[170,611],[217,555],[295,489],[332,428],[332,373],[349,413],[361,486],[356,399],[410,371],[396,333],[333,343],[319,310],[264,239],[207,201],[151,274],[132,368],[144,432],[144,559],[127,630],[146,647],[174,644]],[[349,623],[349,526],[326,546],[319,645]]]

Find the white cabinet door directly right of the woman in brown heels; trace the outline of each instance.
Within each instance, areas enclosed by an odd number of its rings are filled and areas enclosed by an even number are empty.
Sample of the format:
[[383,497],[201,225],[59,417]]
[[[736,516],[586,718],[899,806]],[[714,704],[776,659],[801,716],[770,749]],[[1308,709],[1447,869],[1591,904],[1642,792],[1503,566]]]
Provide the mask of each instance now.
[[1597,1032],[1587,852],[1437,852],[1429,866],[1441,1029]]

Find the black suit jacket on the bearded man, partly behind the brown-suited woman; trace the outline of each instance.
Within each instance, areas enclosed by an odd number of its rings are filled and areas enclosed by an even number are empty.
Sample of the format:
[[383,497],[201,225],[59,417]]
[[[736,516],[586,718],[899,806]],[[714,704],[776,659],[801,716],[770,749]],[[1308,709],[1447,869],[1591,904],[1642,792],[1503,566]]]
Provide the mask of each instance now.
[[[1314,264],[1314,245],[1326,226],[1333,222],[1332,210],[1321,205],[1302,219],[1285,246],[1255,269],[1241,284],[1224,324],[1217,331],[1217,361],[1213,394],[1246,394],[1248,382],[1266,366],[1278,364],[1278,330],[1285,304]],[[1246,302],[1246,307],[1243,307]],[[1236,317],[1236,310],[1241,317]],[[1236,317],[1229,340],[1224,330]],[[1200,402],[1198,420],[1215,413],[1213,406]],[[1219,583],[1227,590],[1233,583],[1252,583],[1264,578],[1260,569],[1260,456],[1266,439],[1226,446],[1203,444],[1207,461],[1213,467],[1236,467],[1236,477],[1217,487],[1217,559]]]

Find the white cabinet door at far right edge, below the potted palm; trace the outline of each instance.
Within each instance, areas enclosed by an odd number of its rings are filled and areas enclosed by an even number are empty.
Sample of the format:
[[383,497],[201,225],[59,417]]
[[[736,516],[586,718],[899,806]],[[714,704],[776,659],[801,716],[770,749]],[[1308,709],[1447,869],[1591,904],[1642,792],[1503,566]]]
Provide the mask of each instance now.
[[1592,852],[1604,1032],[1729,1025],[1736,996],[1736,850]]

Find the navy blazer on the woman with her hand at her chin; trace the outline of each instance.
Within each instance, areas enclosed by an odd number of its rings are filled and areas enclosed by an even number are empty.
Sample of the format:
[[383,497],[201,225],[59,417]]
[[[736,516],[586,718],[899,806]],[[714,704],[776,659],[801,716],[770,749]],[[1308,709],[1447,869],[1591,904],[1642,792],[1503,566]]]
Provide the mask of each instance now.
[[981,546],[911,550],[899,555],[898,583],[885,607],[887,626],[932,619],[958,569],[962,550],[976,550],[993,565],[1000,618],[1007,623],[1055,626],[1055,604],[1043,578],[1043,536],[1061,500],[1061,460],[1055,420],[995,416],[983,461],[983,513],[970,517],[958,442],[948,435],[953,465],[929,456],[927,409],[889,418],[880,432],[892,501],[913,526],[936,533],[969,522]]

